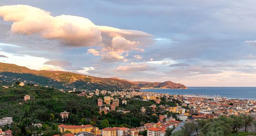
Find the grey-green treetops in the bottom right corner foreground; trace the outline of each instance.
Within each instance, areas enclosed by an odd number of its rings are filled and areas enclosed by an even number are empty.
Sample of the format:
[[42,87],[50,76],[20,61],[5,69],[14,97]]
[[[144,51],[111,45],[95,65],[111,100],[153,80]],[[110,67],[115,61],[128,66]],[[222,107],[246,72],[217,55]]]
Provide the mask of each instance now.
[[[242,127],[252,125],[252,117],[240,116],[220,116],[217,119],[198,120],[197,122],[185,123],[181,130],[170,135],[190,135],[197,133],[200,135],[244,135],[246,132],[239,132]],[[250,133],[255,135],[255,133]]]

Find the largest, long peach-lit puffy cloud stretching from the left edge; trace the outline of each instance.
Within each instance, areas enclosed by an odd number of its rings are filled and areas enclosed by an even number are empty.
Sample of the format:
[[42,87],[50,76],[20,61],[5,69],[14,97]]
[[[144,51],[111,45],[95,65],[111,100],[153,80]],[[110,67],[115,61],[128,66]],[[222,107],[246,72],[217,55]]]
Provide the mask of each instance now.
[[[137,30],[125,30],[97,26],[91,20],[72,15],[52,16],[50,12],[28,5],[0,7],[0,16],[12,21],[11,32],[20,35],[39,35],[47,40],[56,40],[68,48],[100,47],[88,53],[101,56],[101,61],[127,61],[124,53],[144,50],[153,40],[153,35]],[[98,52],[98,53],[97,53]]]

